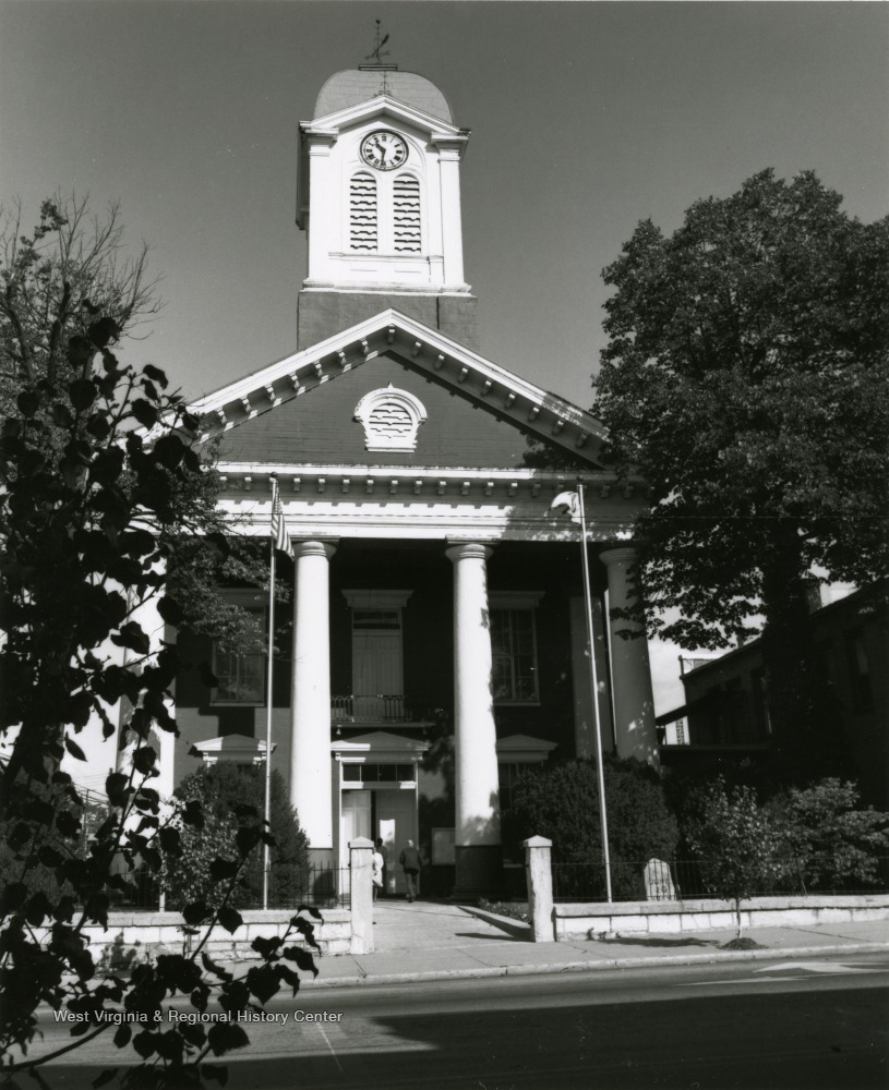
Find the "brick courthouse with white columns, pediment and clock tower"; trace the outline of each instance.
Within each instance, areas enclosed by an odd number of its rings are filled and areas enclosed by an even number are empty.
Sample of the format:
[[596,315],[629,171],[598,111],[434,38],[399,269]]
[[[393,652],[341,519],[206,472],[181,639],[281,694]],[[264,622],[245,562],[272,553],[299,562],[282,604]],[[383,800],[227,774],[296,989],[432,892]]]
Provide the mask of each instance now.
[[[550,510],[578,480],[604,746],[658,760],[646,641],[603,621],[606,595],[628,604],[644,491],[603,468],[589,413],[478,353],[468,140],[421,76],[333,76],[300,124],[297,352],[193,405],[202,434],[221,437],[221,504],[251,533],[268,535],[273,474],[280,484],[295,559],[278,574],[295,602],[272,761],[313,858],[341,865],[350,839],[381,836],[397,860],[411,838],[436,886],[461,894],[502,881],[501,799],[518,771],[594,754],[579,535]],[[263,614],[256,591],[232,595]],[[212,659],[218,686],[178,681],[161,789],[202,761],[265,756],[264,656],[188,632],[179,644]]]

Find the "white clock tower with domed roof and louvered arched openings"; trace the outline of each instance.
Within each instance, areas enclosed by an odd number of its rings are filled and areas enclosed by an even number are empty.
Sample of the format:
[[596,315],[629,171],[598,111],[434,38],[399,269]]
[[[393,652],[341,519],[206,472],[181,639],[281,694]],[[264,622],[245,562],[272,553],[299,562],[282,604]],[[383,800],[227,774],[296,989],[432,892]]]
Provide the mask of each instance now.
[[[393,296],[461,296],[456,312],[466,325],[460,160],[468,140],[423,76],[372,65],[327,81],[314,120],[300,122],[297,223],[309,242],[301,343],[307,320],[310,337],[329,335],[386,306],[405,310]],[[332,293],[374,299],[334,303]],[[420,305],[417,299],[407,310],[428,320]]]

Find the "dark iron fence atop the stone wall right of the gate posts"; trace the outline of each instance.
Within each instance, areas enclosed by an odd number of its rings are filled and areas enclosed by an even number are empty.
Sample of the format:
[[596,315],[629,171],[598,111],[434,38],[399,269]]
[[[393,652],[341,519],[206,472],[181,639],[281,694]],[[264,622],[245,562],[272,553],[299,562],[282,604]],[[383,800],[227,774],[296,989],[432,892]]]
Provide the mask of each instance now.
[[[672,862],[611,860],[612,897],[617,901],[689,900],[714,897],[719,864],[697,859]],[[805,896],[808,894],[889,893],[889,857],[870,860],[869,881],[861,877],[836,881],[818,877],[793,858],[781,861],[755,884],[752,896]],[[553,863],[553,899],[556,901],[605,901],[605,869],[602,863]]]

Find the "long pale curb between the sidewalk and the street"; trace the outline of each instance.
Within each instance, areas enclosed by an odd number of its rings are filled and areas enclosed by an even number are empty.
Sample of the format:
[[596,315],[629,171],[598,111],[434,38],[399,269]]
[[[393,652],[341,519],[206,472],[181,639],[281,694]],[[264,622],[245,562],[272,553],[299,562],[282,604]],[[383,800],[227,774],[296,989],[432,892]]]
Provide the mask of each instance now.
[[531,977],[563,972],[597,972],[613,969],[653,969],[658,966],[712,965],[717,961],[767,961],[777,958],[812,957],[818,954],[862,954],[889,950],[889,943],[844,943],[832,946],[789,946],[758,950],[712,950],[708,954],[668,954],[657,957],[608,958],[597,961],[562,961],[545,965],[479,966],[471,969],[431,969],[427,972],[364,973],[363,976],[324,979],[324,969],[314,979],[300,981],[300,989],[311,991],[336,988],[367,988],[373,984],[425,983],[435,980],[482,980],[494,977]]

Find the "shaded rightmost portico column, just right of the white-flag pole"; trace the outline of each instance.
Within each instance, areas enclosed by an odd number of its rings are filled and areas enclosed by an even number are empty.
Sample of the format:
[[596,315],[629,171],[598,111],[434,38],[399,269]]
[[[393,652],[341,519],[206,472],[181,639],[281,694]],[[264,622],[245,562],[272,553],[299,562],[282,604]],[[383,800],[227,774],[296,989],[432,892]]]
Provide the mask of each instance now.
[[[600,554],[608,569],[609,613],[627,609],[634,601],[629,569],[636,559],[630,547],[613,548]],[[635,756],[648,764],[660,764],[658,735],[654,728],[654,697],[651,690],[651,667],[648,663],[648,640],[645,635],[625,639],[621,631],[636,630],[639,625],[609,617],[611,651],[611,686],[614,703],[614,734],[617,756]]]

